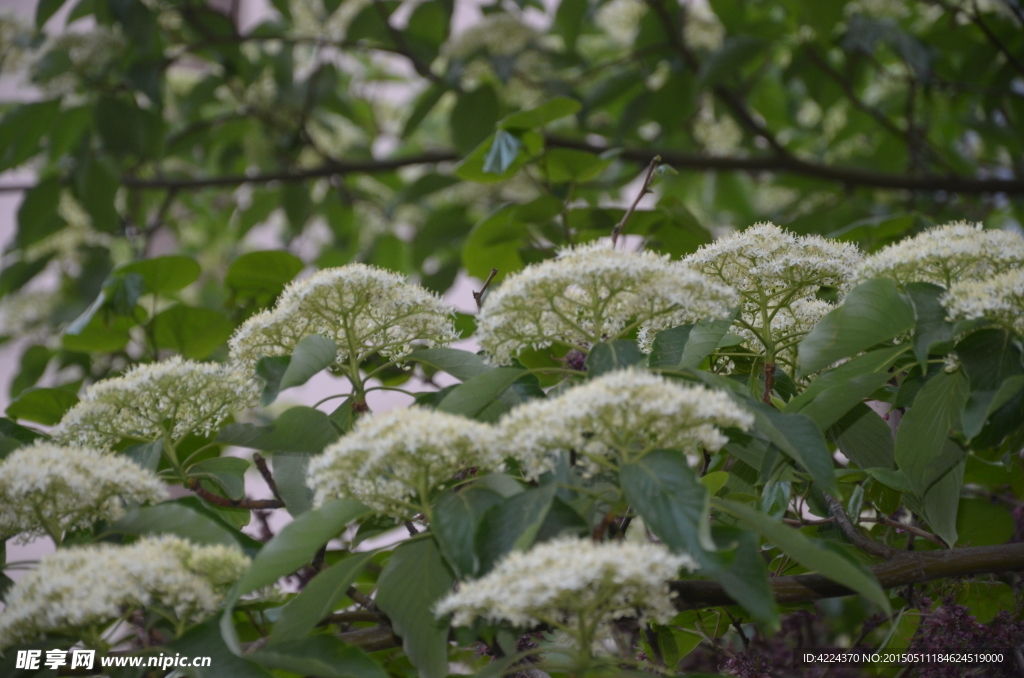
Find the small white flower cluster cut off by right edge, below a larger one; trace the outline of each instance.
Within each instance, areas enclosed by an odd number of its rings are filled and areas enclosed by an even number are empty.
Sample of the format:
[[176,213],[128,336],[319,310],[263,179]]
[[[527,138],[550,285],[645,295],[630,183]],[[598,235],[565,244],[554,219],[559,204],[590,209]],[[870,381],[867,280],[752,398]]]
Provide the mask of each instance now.
[[943,304],[952,320],[984,317],[1024,335],[1024,268],[983,281],[953,283]]

